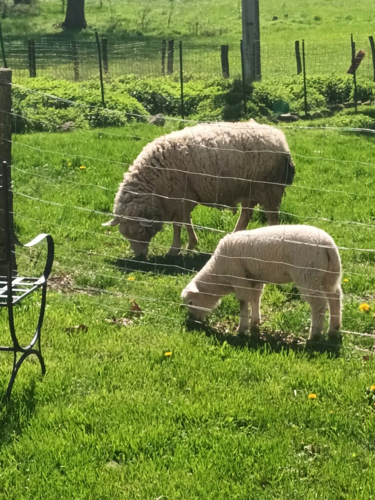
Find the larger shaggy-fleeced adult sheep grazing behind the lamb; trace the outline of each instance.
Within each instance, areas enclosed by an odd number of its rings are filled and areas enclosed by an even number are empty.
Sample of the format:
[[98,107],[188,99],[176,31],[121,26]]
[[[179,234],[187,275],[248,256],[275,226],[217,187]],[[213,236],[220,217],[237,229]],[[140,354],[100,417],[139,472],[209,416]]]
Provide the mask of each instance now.
[[277,224],[286,184],[294,165],[282,131],[254,120],[205,123],[171,132],[149,142],[124,174],[114,199],[114,217],[135,256],[145,256],[149,242],[165,221],[173,222],[168,255],[181,246],[181,226],[188,249],[197,237],[190,213],[203,204],[241,212],[234,231],[245,229],[259,203],[268,223]]

